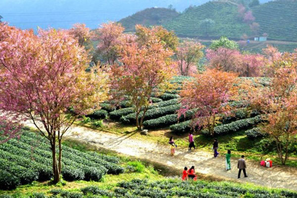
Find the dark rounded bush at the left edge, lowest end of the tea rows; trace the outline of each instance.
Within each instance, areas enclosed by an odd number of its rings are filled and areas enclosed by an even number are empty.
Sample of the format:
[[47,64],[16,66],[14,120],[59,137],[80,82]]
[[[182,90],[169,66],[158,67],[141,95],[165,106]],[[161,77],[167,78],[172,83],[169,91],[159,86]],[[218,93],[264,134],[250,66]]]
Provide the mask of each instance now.
[[0,190],[13,190],[20,185],[20,179],[0,169]]

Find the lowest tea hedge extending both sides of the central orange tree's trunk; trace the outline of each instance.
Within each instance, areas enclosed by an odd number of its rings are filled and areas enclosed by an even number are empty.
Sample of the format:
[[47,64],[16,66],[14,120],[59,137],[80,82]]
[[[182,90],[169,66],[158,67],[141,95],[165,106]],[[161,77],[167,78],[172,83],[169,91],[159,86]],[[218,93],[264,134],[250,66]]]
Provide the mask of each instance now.
[[[154,119],[161,116],[165,116],[168,114],[174,114],[181,107],[180,104],[170,105],[166,107],[159,107],[154,109],[149,109],[146,114],[144,120]],[[139,118],[143,116],[143,112],[140,113]],[[125,124],[131,124],[136,122],[136,113],[128,114],[120,119],[121,122]]]

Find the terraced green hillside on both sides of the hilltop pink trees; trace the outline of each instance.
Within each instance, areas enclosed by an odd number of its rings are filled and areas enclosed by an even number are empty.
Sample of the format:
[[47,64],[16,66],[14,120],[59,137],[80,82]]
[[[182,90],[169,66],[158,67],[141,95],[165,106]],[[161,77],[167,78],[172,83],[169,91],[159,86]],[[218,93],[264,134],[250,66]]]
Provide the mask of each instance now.
[[[220,37],[240,39],[243,34],[249,37],[267,33],[271,40],[297,40],[297,0],[270,1],[251,8],[255,22],[260,24],[258,34],[238,17],[238,4],[235,1],[209,1],[200,6],[192,6],[181,15],[164,24],[180,37]],[[213,25],[208,30],[203,24],[206,19]]]

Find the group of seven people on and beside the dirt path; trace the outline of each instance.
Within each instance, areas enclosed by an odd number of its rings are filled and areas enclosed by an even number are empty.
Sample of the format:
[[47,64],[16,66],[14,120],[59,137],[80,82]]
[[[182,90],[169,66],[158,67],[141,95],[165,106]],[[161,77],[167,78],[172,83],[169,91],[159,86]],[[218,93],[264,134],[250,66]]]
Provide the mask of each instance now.
[[[171,150],[170,150],[171,155],[174,156],[175,148],[177,147],[177,145],[175,144],[173,137],[170,137],[169,144],[171,145]],[[191,151],[192,148],[194,148],[194,150],[195,150],[194,136],[193,136],[193,133],[190,132],[189,133],[189,151]],[[214,158],[217,158],[219,155],[219,153],[217,151],[218,148],[219,148],[219,142],[218,142],[218,139],[215,138],[214,142],[213,142],[213,146],[212,146]],[[231,170],[231,151],[230,150],[228,150],[225,157],[226,157],[226,170],[228,171],[228,170]],[[246,164],[245,156],[242,156],[238,160],[237,168],[239,169],[238,178],[240,178],[242,171],[244,172],[245,177],[247,177],[247,173],[246,173],[247,164]],[[182,180],[185,180],[188,177],[196,180],[197,176],[195,174],[195,167],[192,166],[189,171],[187,171],[187,170],[188,170],[188,168],[185,167],[184,171],[183,171]]]

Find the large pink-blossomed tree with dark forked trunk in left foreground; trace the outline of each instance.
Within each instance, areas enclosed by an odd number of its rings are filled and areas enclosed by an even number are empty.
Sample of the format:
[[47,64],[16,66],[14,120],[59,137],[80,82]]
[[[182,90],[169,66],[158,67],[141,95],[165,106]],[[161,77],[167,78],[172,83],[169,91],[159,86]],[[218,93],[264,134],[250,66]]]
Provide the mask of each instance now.
[[[35,35],[4,25],[0,35],[0,115],[2,120],[5,116],[33,121],[49,140],[53,182],[57,183],[62,138],[79,115],[105,98],[104,81],[99,81],[104,76],[99,71],[85,72],[88,55],[67,31],[40,29]],[[69,108],[76,114],[67,113]],[[13,131],[7,136],[14,136]]]

